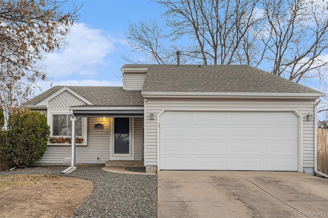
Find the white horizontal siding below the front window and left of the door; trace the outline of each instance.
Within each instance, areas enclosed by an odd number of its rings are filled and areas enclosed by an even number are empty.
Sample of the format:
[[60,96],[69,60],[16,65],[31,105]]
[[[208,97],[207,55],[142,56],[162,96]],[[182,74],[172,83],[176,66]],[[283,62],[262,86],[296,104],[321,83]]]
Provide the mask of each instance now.
[[[101,123],[104,129],[95,129]],[[105,163],[109,160],[109,121],[103,118],[88,118],[88,146],[76,146],[76,164]],[[100,161],[97,161],[100,157]],[[65,158],[69,161],[65,162]],[[42,160],[37,163],[70,164],[71,146],[48,146]]]

